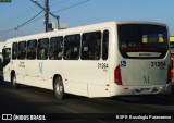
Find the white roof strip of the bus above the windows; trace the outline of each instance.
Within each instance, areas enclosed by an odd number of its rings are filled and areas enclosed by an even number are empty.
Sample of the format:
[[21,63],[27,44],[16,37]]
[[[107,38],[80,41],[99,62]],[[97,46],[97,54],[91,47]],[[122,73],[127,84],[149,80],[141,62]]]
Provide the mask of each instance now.
[[72,27],[67,29],[28,35],[24,37],[11,38],[11,39],[8,39],[5,42],[25,41],[25,40],[32,40],[32,39],[38,39],[38,38],[53,37],[59,35],[62,36],[64,34],[71,35],[74,33],[82,33],[82,32],[89,32],[89,30],[95,32],[97,28],[98,29],[113,28],[116,24],[154,24],[154,25],[166,26],[166,24],[163,24],[163,23],[147,22],[147,21],[120,21],[120,22],[112,21],[112,22],[103,22],[103,23],[90,24],[85,26]]

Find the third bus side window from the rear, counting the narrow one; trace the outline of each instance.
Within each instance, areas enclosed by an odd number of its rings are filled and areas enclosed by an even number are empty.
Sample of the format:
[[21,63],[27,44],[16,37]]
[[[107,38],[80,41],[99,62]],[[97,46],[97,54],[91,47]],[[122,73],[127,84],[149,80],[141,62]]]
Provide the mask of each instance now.
[[64,37],[64,59],[78,60],[79,59],[80,35],[69,35]]

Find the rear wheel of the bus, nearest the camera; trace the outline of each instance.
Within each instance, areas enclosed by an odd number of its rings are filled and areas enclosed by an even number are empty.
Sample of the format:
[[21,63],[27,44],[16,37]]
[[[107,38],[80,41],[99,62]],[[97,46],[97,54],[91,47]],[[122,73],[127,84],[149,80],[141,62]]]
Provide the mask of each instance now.
[[53,83],[53,90],[58,99],[64,98],[65,94],[64,94],[64,87],[63,87],[63,82],[61,77],[55,78]]

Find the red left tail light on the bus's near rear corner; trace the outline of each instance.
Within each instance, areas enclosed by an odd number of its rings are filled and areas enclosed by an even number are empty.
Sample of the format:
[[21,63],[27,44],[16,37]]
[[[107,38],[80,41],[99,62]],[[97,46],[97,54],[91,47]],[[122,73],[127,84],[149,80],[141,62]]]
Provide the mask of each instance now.
[[120,65],[117,65],[114,70],[114,83],[117,85],[122,85],[121,66]]

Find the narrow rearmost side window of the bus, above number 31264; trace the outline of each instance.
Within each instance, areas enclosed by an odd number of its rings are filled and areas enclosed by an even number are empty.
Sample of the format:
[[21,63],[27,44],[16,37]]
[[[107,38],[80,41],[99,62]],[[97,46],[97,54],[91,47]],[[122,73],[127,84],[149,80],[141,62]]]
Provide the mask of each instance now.
[[102,39],[102,60],[108,59],[108,52],[109,52],[109,30],[104,30]]

